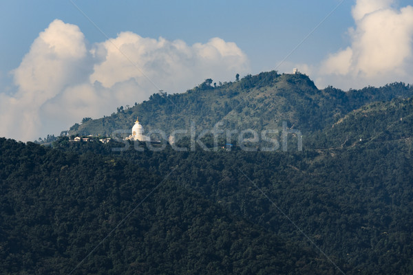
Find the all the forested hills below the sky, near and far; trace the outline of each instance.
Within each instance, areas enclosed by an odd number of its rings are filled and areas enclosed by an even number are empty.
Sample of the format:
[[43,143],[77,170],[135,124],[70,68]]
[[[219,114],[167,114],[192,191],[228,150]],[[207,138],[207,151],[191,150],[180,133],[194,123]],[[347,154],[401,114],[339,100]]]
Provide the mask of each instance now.
[[[50,146],[0,138],[0,273],[413,274],[413,87],[211,83],[84,118]],[[129,133],[136,115],[167,132],[285,121],[303,146],[72,141]]]

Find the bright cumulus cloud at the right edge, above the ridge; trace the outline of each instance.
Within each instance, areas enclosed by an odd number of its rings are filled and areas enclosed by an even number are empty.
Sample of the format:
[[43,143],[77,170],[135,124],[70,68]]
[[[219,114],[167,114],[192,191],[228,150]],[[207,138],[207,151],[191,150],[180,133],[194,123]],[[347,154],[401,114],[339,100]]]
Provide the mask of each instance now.
[[413,82],[413,7],[393,8],[392,0],[357,0],[351,45],[321,63],[316,83],[342,89]]

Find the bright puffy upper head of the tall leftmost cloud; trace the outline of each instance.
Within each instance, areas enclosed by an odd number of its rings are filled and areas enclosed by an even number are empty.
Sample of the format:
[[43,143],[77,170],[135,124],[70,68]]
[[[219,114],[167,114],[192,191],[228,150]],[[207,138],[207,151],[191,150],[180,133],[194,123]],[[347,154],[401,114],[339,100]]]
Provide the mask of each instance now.
[[84,36],[76,25],[55,20],[39,34],[30,52],[14,70],[21,93],[52,97],[63,85],[76,80],[76,65],[86,56]]

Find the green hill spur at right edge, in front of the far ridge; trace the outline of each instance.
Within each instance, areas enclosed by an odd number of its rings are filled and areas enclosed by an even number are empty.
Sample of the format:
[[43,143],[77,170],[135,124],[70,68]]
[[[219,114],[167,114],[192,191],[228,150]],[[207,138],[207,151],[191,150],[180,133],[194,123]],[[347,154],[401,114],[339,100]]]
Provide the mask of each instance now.
[[325,131],[306,140],[313,148],[402,142],[412,146],[413,98],[373,102],[351,111]]

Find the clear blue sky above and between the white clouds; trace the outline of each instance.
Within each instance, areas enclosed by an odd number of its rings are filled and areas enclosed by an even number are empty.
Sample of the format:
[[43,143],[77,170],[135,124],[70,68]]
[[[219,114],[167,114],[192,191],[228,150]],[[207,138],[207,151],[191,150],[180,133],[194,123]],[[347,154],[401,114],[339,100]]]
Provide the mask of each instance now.
[[[144,37],[205,43],[218,36],[235,42],[253,74],[273,69],[339,3],[312,1],[75,1],[109,37],[131,31]],[[348,43],[353,1],[344,1],[289,61],[314,63]],[[24,8],[23,8],[24,7]],[[30,45],[54,19],[78,25],[89,43],[105,40],[70,1],[1,3],[1,71],[19,66]],[[9,26],[10,28],[7,28]]]

